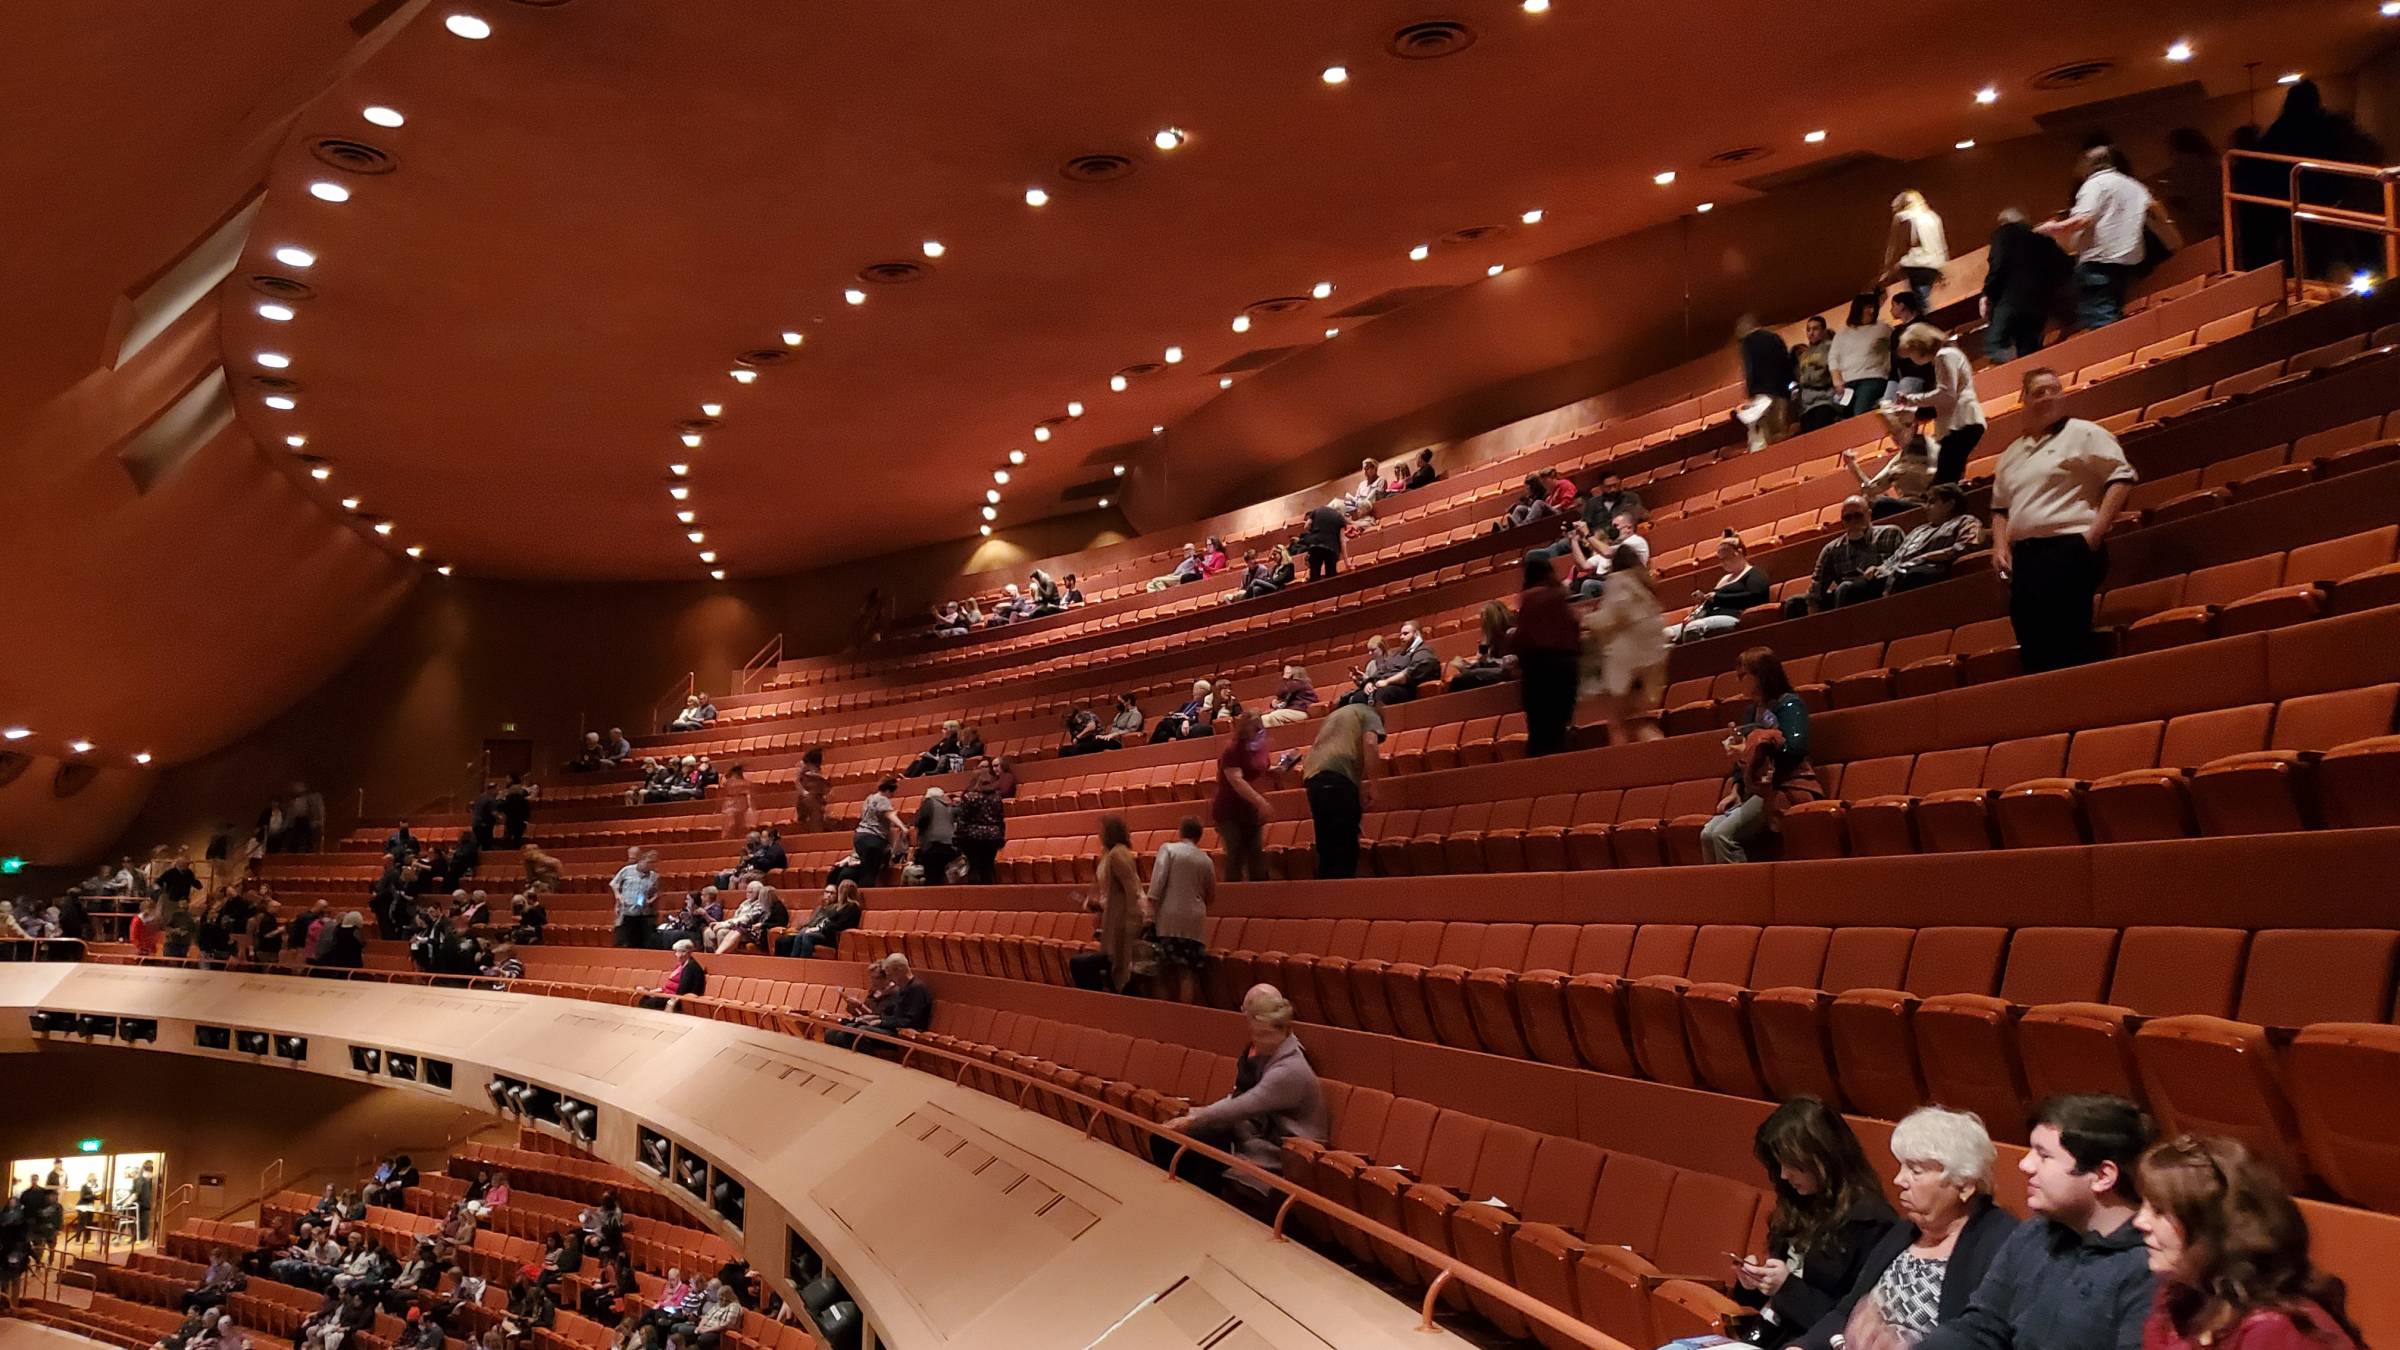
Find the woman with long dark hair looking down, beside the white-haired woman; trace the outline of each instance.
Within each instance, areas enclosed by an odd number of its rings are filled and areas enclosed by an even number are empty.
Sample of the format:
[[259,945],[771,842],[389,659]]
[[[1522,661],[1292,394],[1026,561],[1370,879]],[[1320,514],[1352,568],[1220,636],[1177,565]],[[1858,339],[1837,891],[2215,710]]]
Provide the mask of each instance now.
[[1750,1151],[1776,1189],[1776,1211],[1769,1254],[1742,1256],[1733,1297],[1764,1314],[1750,1340],[1778,1348],[1834,1312],[1894,1218],[1850,1124],[1817,1098],[1776,1107]]

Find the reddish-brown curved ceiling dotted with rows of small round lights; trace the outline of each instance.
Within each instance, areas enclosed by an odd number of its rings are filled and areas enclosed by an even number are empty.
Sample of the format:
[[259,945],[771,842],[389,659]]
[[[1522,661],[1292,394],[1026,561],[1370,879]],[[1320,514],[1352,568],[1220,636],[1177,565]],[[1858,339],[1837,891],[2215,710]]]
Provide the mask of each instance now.
[[[1766,0],[1538,10],[451,0],[278,154],[245,271],[312,295],[266,322],[262,295],[228,288],[228,370],[259,375],[271,351],[298,382],[290,411],[250,387],[240,418],[262,444],[305,435],[334,468],[319,500],[355,495],[396,521],[394,543],[461,569],[698,577],[708,548],[785,572],[972,533],[1010,449],[1027,464],[1001,490],[1003,528],[1087,507],[1150,428],[1238,406],[1243,375],[1222,392],[1222,365],[1284,346],[1342,363],[1325,331],[1370,322],[1342,315],[1363,300],[1481,283],[1838,156],[2016,137],[2038,113],[2177,82],[2237,91],[2251,60],[2347,70],[2390,31],[2374,0],[1862,0],[1810,24]],[[451,14],[490,36],[456,36]],[[1438,17],[1471,43],[1394,55]],[[2179,38],[2194,60],[2165,58]],[[2114,70],[2033,86],[2086,60]],[[1332,65],[1349,79],[1327,84]],[[1980,86],[1997,103],[1978,106]],[[367,106],[406,123],[370,125]],[[1162,127],[1188,139],[1162,151]],[[331,166],[326,137],[386,159]],[[1709,166],[1733,147],[1764,154]],[[1128,173],[1073,180],[1085,154]],[[1656,185],[1663,171],[1678,180]],[[319,180],[350,197],[314,199]],[[1500,233],[1440,243],[1471,226]],[[1418,243],[1430,257],[1411,262]],[[278,267],[281,245],[317,259]],[[922,276],[862,279],[883,262]],[[1234,331],[1277,295],[1303,303]],[[749,351],[766,358],[739,384]],[[1140,363],[1159,370],[1111,392]],[[1390,372],[1361,363],[1358,380]],[[1070,401],[1087,413],[1037,442]],[[720,425],[686,449],[679,420],[703,404]],[[1310,449],[1255,432],[1236,452],[1250,471]],[[691,466],[684,502],[670,464]]]

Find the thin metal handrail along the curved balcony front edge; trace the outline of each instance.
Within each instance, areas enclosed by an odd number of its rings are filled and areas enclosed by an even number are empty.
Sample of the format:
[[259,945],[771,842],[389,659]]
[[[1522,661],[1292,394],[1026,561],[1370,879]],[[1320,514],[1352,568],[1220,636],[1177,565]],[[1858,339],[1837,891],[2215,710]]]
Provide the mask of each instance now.
[[[190,956],[180,956],[180,958],[178,956],[125,956],[125,954],[115,954],[115,951],[89,954],[86,961],[106,963],[106,966],[178,966],[178,968],[197,968],[199,966]],[[283,973],[307,973],[307,975],[322,975],[322,978],[384,982],[384,985],[434,985],[434,987],[454,987],[454,990],[480,987],[480,990],[492,990],[492,992],[530,992],[530,994],[545,994],[545,997],[571,997],[571,999],[586,999],[586,1002],[600,1002],[600,1004],[617,1004],[617,1006],[634,1006],[646,994],[646,990],[622,990],[622,987],[614,987],[614,985],[607,985],[607,987],[602,987],[602,985],[571,985],[571,982],[562,982],[562,980],[538,980],[538,978],[502,980],[502,978],[490,978],[490,975],[427,975],[422,970],[365,970],[365,968],[350,970],[350,968],[326,968],[326,966],[307,966],[302,970],[290,970],[286,966],[259,966],[254,961],[228,961],[228,963],[211,966],[211,968],[218,968],[218,970],[283,970]],[[655,997],[655,994],[650,994],[650,997]],[[710,1021],[739,1021],[732,1014],[746,1011],[742,1004],[715,1002],[715,999],[708,999],[706,994],[698,997],[698,1004],[701,1004],[701,1011],[706,1011],[710,1016]],[[1358,1211],[1337,1206],[1337,1203],[1327,1201],[1325,1196],[1320,1196],[1315,1191],[1306,1191],[1301,1187],[1294,1187],[1284,1177],[1279,1177],[1274,1172],[1267,1172],[1265,1167],[1260,1167],[1260,1165],[1255,1165],[1255,1163],[1250,1163],[1246,1158],[1238,1158],[1234,1153],[1224,1153],[1222,1148],[1202,1143],[1200,1139],[1193,1139],[1190,1134],[1183,1134],[1183,1131],[1176,1131],[1176,1129],[1166,1129],[1164,1124],[1159,1124],[1154,1119],[1145,1119],[1145,1117],[1133,1115],[1133,1112],[1128,1112],[1123,1107],[1109,1105],[1109,1103],[1104,1103],[1099,1098],[1090,1098],[1090,1095],[1078,1093],[1073,1088],[1061,1088],[1058,1083],[1051,1083],[1046,1079],[1034,1079],[1032,1074],[1022,1074],[1022,1071],[1010,1069],[1006,1064],[994,1064],[989,1059],[974,1059],[972,1055],[960,1055],[955,1050],[946,1050],[941,1045],[929,1045],[924,1040],[912,1040],[912,1038],[893,1035],[888,1031],[847,1026],[847,1023],[842,1023],[838,1019],[830,1019],[830,1016],[823,1016],[823,1014],[811,1014],[811,1011],[799,1011],[799,1009],[763,1009],[763,1011],[778,1023],[775,1028],[768,1028],[768,1031],[782,1031],[785,1035],[797,1035],[802,1040],[823,1040],[823,1035],[828,1031],[842,1031],[842,1033],[850,1033],[850,1035],[862,1038],[862,1040],[876,1040],[876,1043],[890,1045],[890,1047],[895,1047],[900,1052],[900,1067],[902,1069],[912,1067],[910,1059],[934,1057],[934,1059],[943,1059],[943,1062],[958,1064],[960,1069],[974,1069],[977,1074],[996,1074],[1001,1079],[1008,1079],[1008,1081],[1018,1083],[1018,1095],[1015,1095],[1015,1103],[1013,1103],[1018,1107],[1025,1107],[1025,1100],[1030,1095],[1046,1093],[1046,1095],[1058,1098],[1058,1100],[1063,1100],[1068,1105],[1082,1107],[1082,1112],[1085,1112],[1085,1127],[1082,1127],[1085,1139],[1090,1139],[1099,1129],[1102,1119],[1116,1119],[1116,1122],[1121,1122],[1121,1124],[1126,1124],[1126,1127],[1130,1127],[1130,1129],[1135,1129],[1135,1131],[1140,1131],[1145,1136],[1166,1139],[1169,1143],[1176,1146],[1174,1158],[1169,1160],[1169,1175],[1174,1175],[1174,1167],[1183,1160],[1186,1153],[1198,1153],[1202,1158],[1212,1158],[1212,1160],[1222,1163],[1226,1167],[1226,1172],[1236,1172],[1236,1175],[1250,1177],[1250,1179],[1260,1182],[1262,1187],[1267,1187],[1270,1191],[1279,1191],[1282,1194],[1282,1201],[1279,1201],[1279,1206],[1274,1211],[1274,1223],[1272,1223],[1272,1232],[1274,1232],[1277,1242],[1289,1242],[1289,1237],[1284,1237],[1284,1220],[1291,1215],[1291,1208],[1298,1206],[1298,1208],[1315,1211],[1320,1218],[1327,1218],[1332,1223],[1354,1227],[1354,1230],[1363,1232],[1373,1242],[1382,1242],[1382,1244],[1397,1247],[1399,1252],[1406,1252],[1421,1266],[1435,1271],[1435,1280],[1426,1290],[1423,1302],[1418,1304],[1418,1328],[1421,1331],[1438,1331],[1438,1326],[1433,1321],[1433,1312],[1435,1312],[1435,1307],[1440,1307],[1442,1290],[1447,1285],[1452,1285],[1452,1283],[1462,1283],[1462,1285],[1469,1285],[1476,1292],[1490,1297],[1493,1302],[1507,1304],[1519,1316],[1548,1326],[1550,1331],[1560,1333],[1562,1338],[1567,1338],[1574,1345],[1582,1345],[1586,1350],[1630,1350],[1622,1340],[1618,1340],[1618,1338],[1613,1338],[1613,1336],[1608,1336],[1608,1333],[1603,1333],[1603,1331],[1598,1331],[1598,1328],[1594,1328],[1594,1326],[1589,1326],[1584,1321],[1577,1321],[1574,1316],[1567,1316],[1565,1312],[1560,1312],[1560,1309],[1555,1309],[1555,1307],[1550,1307],[1550,1304],[1546,1304],[1546,1302],[1526,1295],[1524,1290],[1517,1290],[1514,1285],[1507,1285],[1507,1283],[1495,1280],[1493,1276],[1488,1276],[1483,1271],[1476,1271],[1474,1266],[1466,1266],[1464,1261],[1459,1261],[1457,1256],[1452,1256],[1447,1252],[1426,1247],[1416,1237],[1409,1237],[1406,1232],[1387,1227],[1387,1225],[1382,1225],[1375,1218],[1368,1218],[1368,1215],[1363,1215]],[[751,1026],[751,1023],[742,1023],[742,1026]],[[756,1026],[751,1026],[751,1028],[758,1031]],[[955,1076],[953,1076],[953,1081],[955,1081]],[[281,1163],[281,1158],[276,1163]],[[264,1177],[262,1177],[259,1194],[271,1194],[264,1187]]]

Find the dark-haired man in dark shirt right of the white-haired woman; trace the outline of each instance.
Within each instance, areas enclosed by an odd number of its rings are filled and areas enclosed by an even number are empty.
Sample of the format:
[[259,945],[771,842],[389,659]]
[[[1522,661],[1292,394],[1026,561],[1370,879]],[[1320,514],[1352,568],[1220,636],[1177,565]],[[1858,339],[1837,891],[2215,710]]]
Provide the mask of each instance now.
[[2033,1112],[2016,1165],[2030,1218],[1999,1244],[1958,1316],[1918,1350],[2122,1350],[2143,1345],[2150,1254],[2134,1213],[2150,1119],[2124,1098],[2066,1093]]

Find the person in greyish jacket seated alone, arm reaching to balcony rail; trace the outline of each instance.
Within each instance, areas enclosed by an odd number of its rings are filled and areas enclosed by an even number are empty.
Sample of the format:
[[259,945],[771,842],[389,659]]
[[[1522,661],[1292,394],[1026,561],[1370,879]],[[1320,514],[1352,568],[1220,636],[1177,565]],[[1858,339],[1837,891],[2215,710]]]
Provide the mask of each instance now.
[[[1241,1011],[1250,1023],[1250,1045],[1234,1067],[1234,1091],[1169,1119],[1166,1129],[1231,1153],[1262,1172],[1282,1172],[1286,1139],[1325,1139],[1332,1124],[1325,1088],[1308,1062],[1308,1050],[1291,1031],[1291,1002],[1279,990],[1272,985],[1250,990]],[[1152,1139],[1150,1151],[1159,1167],[1174,1167],[1188,1182],[1217,1189],[1229,1177],[1226,1165],[1214,1158],[1186,1151],[1176,1160],[1171,1139]],[[1231,1182],[1258,1196],[1270,1194],[1270,1187],[1248,1172],[1231,1172]]]

